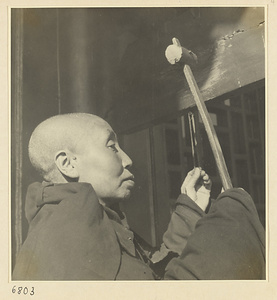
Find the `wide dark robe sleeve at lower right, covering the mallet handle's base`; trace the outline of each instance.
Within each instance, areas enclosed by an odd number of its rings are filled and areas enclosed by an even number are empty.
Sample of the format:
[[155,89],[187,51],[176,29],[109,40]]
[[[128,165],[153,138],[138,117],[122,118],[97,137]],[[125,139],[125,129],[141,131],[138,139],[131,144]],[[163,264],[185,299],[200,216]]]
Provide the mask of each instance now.
[[222,193],[197,222],[165,273],[167,280],[264,278],[264,228],[251,196],[235,188]]

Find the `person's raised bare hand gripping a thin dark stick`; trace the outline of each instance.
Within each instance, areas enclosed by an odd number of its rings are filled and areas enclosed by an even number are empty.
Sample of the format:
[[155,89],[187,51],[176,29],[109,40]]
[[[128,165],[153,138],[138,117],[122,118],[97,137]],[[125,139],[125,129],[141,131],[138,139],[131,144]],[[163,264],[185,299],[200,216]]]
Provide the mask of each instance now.
[[203,211],[206,210],[211,193],[212,182],[209,175],[201,168],[188,172],[181,193],[188,195]]

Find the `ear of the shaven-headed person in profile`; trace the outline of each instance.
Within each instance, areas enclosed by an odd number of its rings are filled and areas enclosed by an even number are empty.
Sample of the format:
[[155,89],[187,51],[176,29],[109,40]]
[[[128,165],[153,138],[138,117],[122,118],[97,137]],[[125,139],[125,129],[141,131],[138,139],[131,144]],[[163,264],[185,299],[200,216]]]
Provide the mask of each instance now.
[[55,164],[60,172],[70,178],[78,178],[79,172],[76,168],[76,157],[68,151],[59,151],[55,155]]

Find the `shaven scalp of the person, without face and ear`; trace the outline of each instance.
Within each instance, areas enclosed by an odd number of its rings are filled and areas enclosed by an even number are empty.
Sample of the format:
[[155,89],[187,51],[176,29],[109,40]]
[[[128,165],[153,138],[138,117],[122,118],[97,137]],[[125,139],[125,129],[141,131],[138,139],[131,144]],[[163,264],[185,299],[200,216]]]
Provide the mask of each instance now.
[[29,157],[34,168],[47,181],[58,182],[61,176],[55,165],[55,155],[61,150],[78,153],[84,141],[106,121],[92,114],[57,115],[40,123],[30,138]]

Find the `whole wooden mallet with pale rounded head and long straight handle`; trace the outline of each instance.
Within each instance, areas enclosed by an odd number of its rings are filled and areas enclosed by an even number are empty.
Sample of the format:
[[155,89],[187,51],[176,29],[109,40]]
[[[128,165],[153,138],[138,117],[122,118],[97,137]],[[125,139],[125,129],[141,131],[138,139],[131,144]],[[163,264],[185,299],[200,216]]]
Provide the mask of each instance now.
[[179,40],[176,38],[172,39],[173,44],[166,48],[165,56],[168,62],[172,65],[174,64],[184,64],[183,72],[185,74],[186,80],[188,82],[189,88],[193,95],[195,104],[199,110],[200,116],[202,118],[207,136],[213,151],[219,176],[222,182],[224,190],[232,188],[232,182],[227,170],[225,159],[215,132],[211,117],[207,111],[206,105],[204,103],[203,97],[200,93],[198,85],[195,81],[193,73],[189,65],[193,66],[197,63],[197,56],[190,50],[182,47]]

